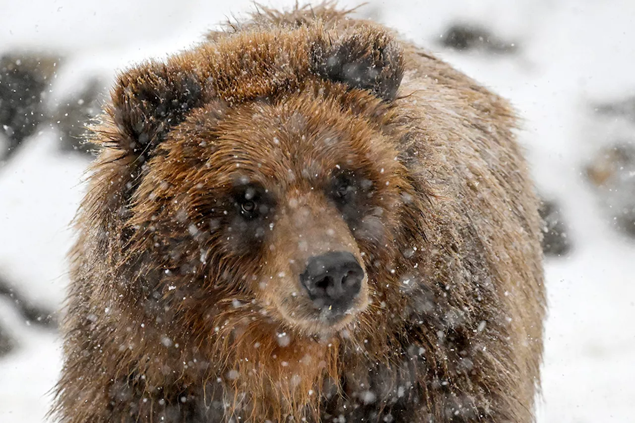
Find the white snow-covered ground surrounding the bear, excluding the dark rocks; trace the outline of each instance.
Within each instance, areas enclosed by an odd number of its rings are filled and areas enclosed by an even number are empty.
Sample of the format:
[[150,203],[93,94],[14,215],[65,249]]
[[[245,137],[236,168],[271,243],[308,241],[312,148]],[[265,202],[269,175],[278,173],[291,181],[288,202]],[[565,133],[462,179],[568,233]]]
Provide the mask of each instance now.
[[[185,48],[215,22],[250,8],[242,0],[231,8],[213,0],[4,1],[0,55],[15,48],[69,55],[72,65],[53,86],[60,91],[91,72],[111,77],[141,58]],[[573,243],[568,257],[546,263],[550,309],[538,421],[634,421],[635,243],[613,230],[582,165],[608,140],[594,124],[592,104],[635,94],[635,3],[391,0],[371,1],[361,11],[511,98],[525,117],[521,140],[538,187],[561,203]],[[517,43],[516,51],[443,50],[439,34],[457,21],[485,25]],[[60,309],[67,224],[81,198],[86,160],[59,152],[55,142],[54,133],[42,131],[0,168],[0,275],[37,304]],[[19,342],[0,358],[0,422],[42,422],[60,341],[51,330],[25,325],[6,297],[0,325]]]

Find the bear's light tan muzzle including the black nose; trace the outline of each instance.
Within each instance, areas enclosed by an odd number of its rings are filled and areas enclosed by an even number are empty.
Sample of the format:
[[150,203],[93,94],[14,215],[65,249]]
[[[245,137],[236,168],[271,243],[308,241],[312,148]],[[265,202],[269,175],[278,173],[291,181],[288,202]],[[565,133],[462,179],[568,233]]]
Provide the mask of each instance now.
[[351,230],[316,192],[292,192],[277,209],[264,304],[305,333],[332,334],[354,323],[369,303],[368,274]]

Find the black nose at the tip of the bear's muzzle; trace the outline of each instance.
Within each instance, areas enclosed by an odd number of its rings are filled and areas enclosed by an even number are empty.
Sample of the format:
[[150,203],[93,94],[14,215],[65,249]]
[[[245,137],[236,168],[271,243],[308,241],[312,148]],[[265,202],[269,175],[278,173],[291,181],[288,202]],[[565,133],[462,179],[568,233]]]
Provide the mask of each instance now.
[[344,312],[361,289],[364,271],[349,252],[330,252],[309,258],[300,283],[319,309]]

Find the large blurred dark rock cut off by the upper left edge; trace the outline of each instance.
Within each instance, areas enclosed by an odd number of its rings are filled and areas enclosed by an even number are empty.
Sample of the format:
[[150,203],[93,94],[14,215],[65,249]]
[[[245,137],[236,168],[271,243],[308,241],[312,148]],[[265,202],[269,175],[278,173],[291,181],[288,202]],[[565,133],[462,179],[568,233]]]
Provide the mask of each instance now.
[[0,58],[0,129],[8,139],[4,159],[44,120],[43,94],[58,62],[59,58],[27,52]]

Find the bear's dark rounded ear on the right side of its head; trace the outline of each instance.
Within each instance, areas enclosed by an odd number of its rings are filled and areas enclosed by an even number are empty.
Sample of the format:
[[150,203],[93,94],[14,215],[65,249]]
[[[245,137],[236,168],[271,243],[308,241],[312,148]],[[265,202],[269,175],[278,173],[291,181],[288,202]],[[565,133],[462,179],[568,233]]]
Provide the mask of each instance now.
[[314,44],[312,68],[324,79],[392,101],[403,77],[403,50],[384,30],[364,26],[337,41]]

